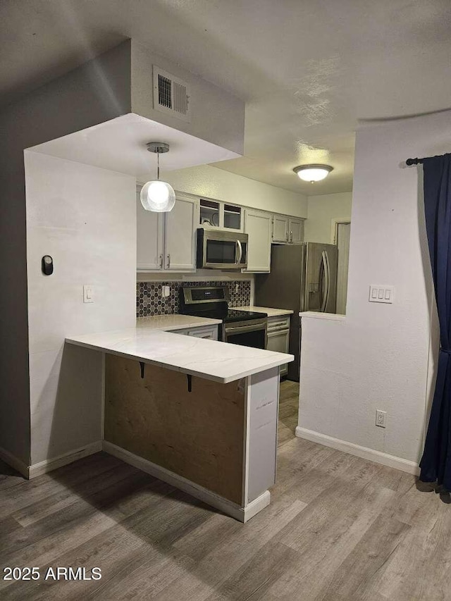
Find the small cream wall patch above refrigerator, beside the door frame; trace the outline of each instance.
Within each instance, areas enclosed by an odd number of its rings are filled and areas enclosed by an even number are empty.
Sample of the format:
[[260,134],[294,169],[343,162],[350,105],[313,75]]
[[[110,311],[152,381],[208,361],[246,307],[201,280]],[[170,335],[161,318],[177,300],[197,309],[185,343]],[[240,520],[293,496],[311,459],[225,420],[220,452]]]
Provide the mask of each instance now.
[[334,221],[349,221],[351,218],[352,192],[319,194],[308,197],[308,213],[305,222],[305,242],[333,241]]

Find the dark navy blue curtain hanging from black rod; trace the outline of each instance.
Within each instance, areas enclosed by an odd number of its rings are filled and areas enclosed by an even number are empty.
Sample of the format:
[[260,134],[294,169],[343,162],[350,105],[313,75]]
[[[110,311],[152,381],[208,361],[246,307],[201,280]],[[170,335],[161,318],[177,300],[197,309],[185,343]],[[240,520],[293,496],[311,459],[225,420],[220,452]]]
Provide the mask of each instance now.
[[437,382],[420,480],[451,490],[451,154],[424,159],[424,213],[440,321]]

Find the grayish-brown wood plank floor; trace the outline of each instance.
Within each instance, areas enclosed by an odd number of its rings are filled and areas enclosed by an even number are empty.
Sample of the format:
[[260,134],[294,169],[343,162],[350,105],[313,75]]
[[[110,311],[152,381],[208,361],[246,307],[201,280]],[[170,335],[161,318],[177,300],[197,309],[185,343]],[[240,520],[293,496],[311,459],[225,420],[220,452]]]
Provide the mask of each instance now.
[[0,466],[0,567],[99,566],[100,581],[0,581],[2,600],[451,600],[451,507],[415,478],[293,437],[247,524],[99,453],[23,481]]

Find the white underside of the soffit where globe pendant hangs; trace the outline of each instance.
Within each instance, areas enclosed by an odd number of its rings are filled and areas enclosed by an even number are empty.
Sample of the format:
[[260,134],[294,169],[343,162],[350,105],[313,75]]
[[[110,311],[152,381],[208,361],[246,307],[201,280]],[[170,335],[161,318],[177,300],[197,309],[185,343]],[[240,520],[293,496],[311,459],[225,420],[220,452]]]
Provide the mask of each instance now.
[[238,154],[198,137],[129,113],[28,150],[78,163],[135,175],[156,177],[156,156],[147,142],[166,142],[171,151],[161,156],[161,173],[234,159]]

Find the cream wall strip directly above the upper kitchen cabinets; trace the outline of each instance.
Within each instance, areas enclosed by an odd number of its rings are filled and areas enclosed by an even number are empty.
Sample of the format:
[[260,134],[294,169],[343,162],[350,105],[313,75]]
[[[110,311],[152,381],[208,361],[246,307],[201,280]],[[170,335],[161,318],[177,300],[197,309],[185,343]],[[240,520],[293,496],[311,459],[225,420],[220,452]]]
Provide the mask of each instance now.
[[250,206],[252,209],[307,217],[307,197],[276,186],[235,175],[212,165],[164,173],[179,192]]

